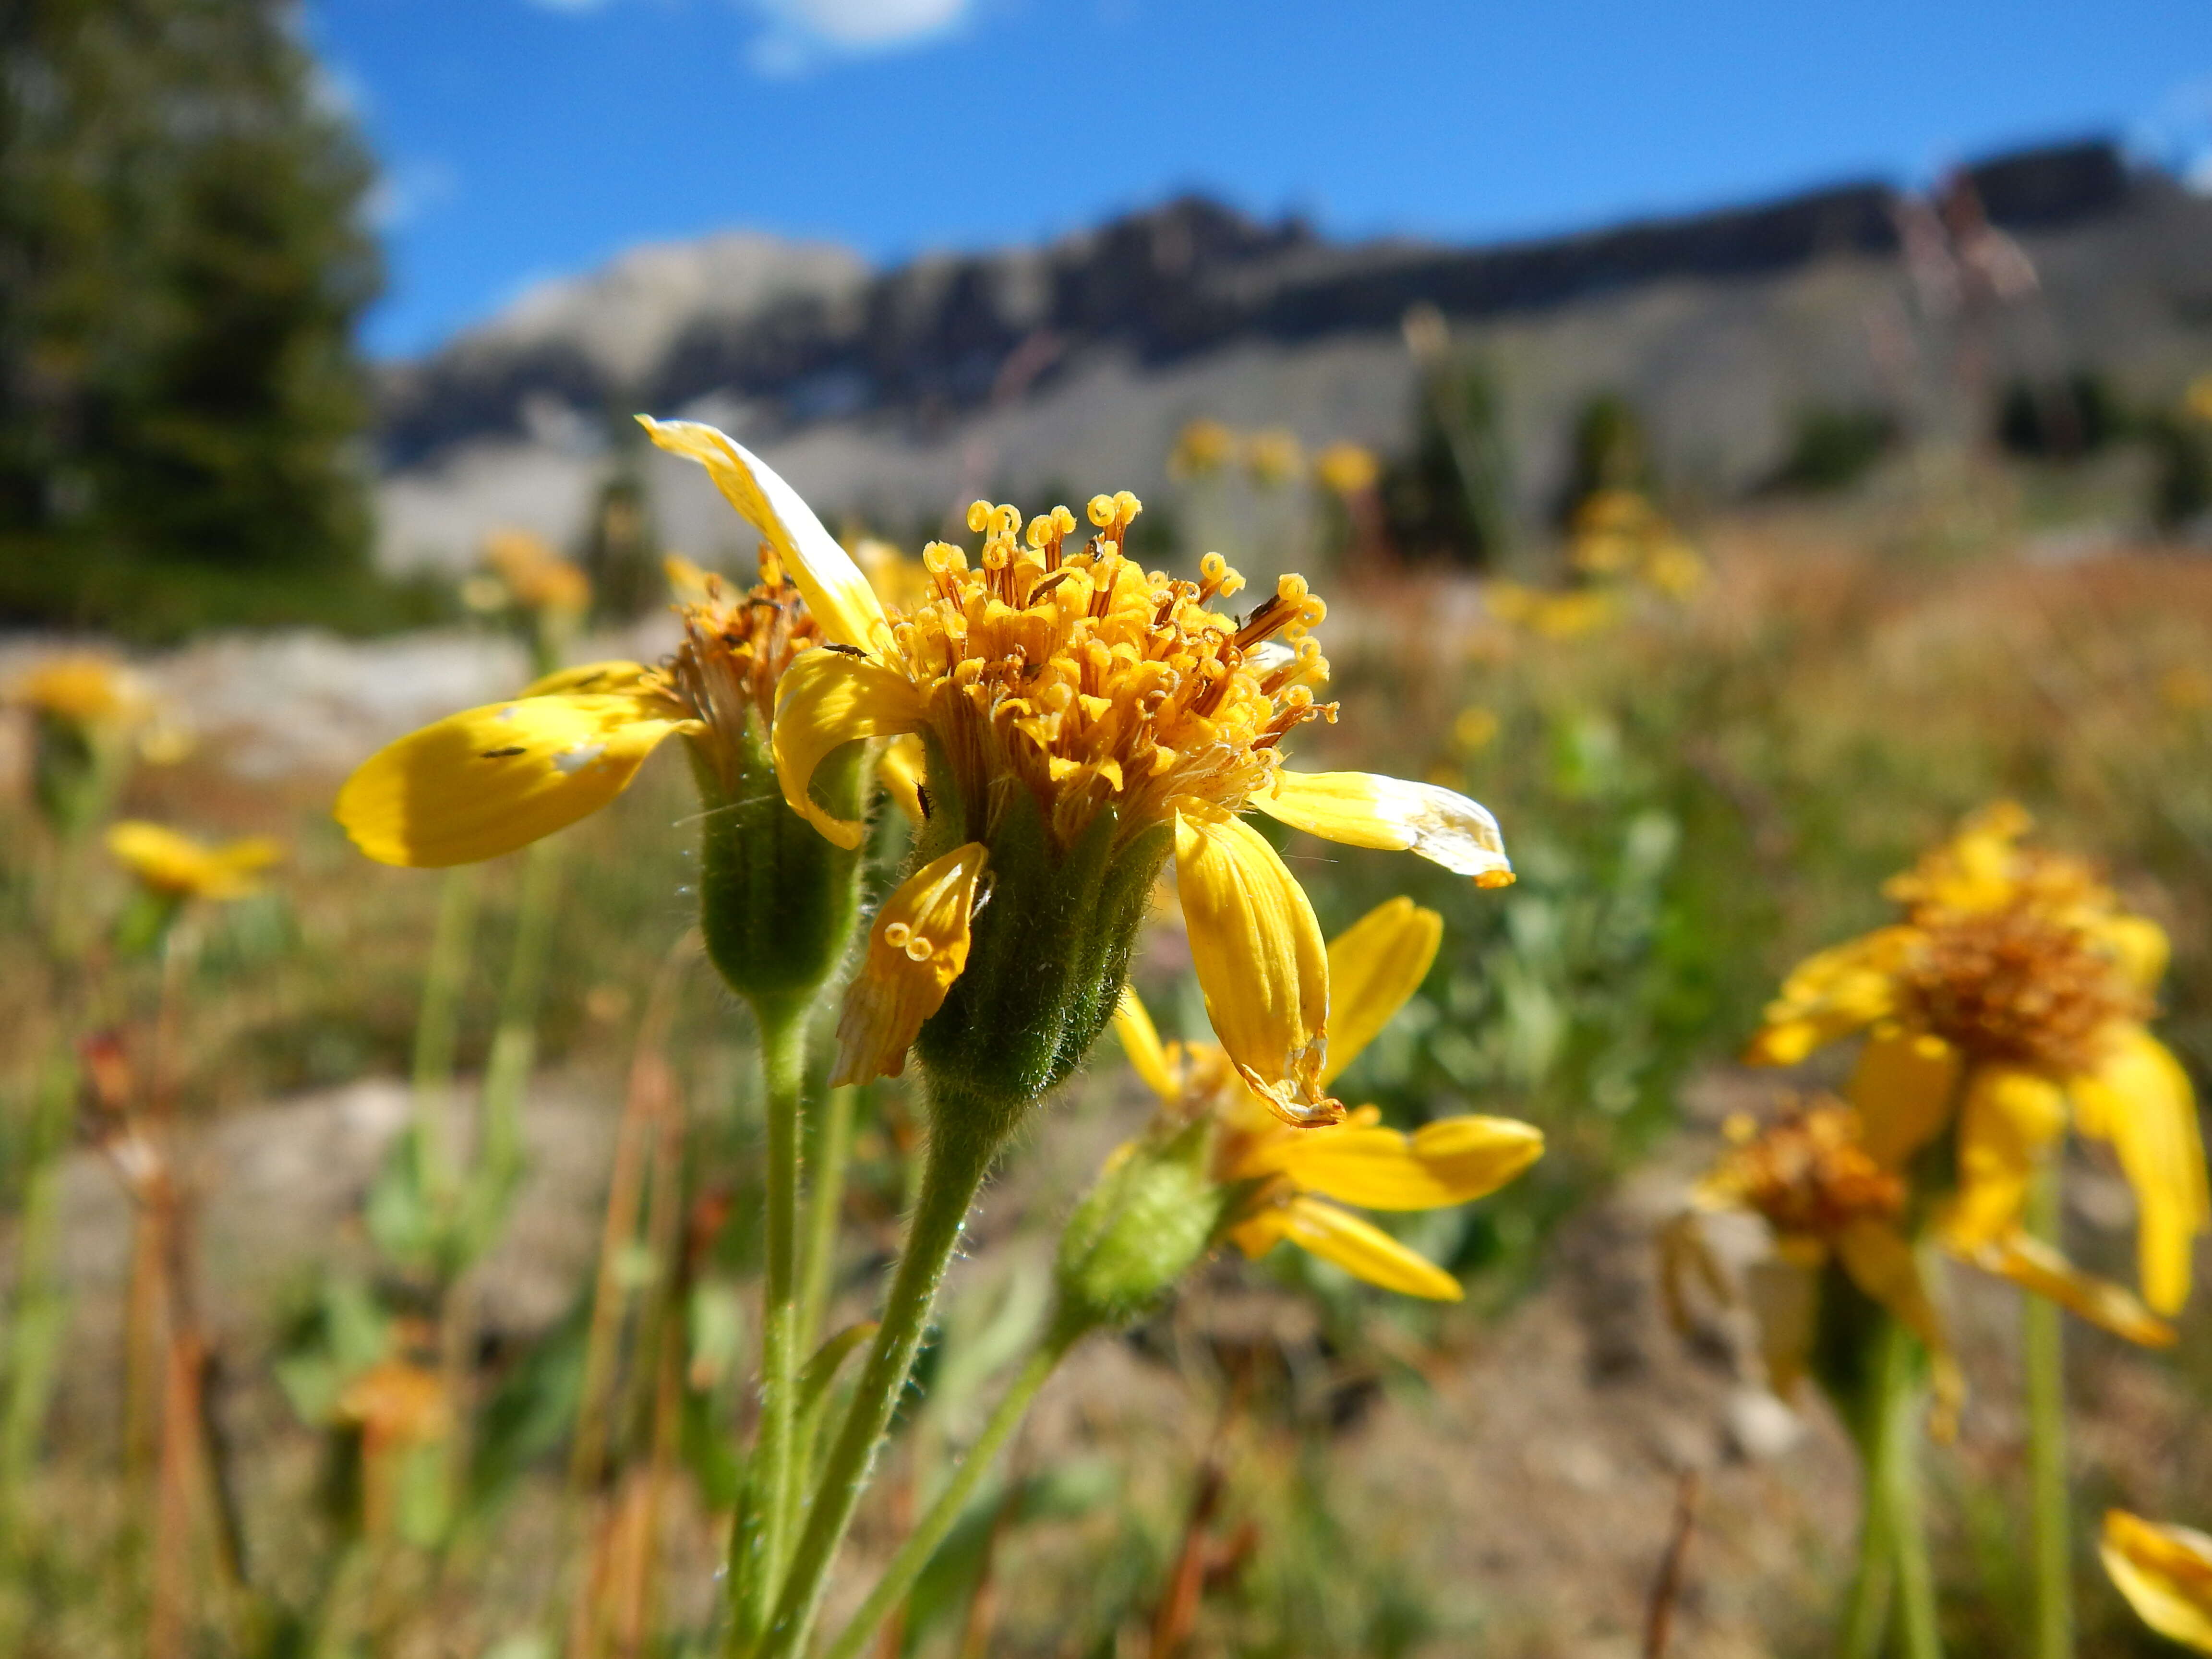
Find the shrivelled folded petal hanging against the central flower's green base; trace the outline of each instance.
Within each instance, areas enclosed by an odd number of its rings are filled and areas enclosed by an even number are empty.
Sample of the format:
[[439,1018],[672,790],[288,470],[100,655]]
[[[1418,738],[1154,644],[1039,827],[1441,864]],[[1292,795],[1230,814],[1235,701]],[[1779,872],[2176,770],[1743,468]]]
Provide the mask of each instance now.
[[980,841],[953,847],[883,900],[867,933],[867,962],[847,987],[836,1022],[832,1086],[896,1077],[907,1068],[914,1033],[945,1006],[945,993],[967,967],[975,883],[987,858]]

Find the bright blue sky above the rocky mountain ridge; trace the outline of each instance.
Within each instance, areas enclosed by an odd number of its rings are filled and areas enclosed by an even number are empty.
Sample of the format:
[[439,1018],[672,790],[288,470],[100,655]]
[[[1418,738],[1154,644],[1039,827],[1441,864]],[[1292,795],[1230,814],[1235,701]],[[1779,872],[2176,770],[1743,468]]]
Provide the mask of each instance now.
[[378,354],[726,226],[889,261],[1201,188],[1493,239],[2044,137],[2212,153],[2203,0],[307,0],[385,168]]

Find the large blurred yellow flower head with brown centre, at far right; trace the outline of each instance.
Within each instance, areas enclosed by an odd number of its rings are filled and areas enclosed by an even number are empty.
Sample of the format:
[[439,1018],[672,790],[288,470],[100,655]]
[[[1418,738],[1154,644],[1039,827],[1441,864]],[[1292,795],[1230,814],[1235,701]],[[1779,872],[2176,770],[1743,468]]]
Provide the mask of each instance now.
[[2070,1108],[2135,1188],[2143,1301],[2172,1314],[2212,1206],[2188,1077],[2143,1026],[2166,936],[2079,860],[2020,847],[2026,830],[2020,807],[1991,807],[1891,880],[1905,920],[1798,964],[1750,1060],[1787,1066],[1865,1031],[1847,1093],[1869,1152],[1905,1168],[1949,1133],[1940,1237],[2000,1272]]

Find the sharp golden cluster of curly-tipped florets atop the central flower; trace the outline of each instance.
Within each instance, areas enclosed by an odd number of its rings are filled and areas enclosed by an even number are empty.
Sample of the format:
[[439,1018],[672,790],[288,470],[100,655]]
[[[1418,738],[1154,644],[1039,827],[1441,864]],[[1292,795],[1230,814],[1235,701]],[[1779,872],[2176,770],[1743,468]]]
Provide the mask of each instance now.
[[1239,622],[1212,608],[1243,586],[1219,553],[1199,582],[1124,555],[1137,511],[1128,491],[1093,498],[1097,535],[1071,551],[1066,507],[1022,531],[1013,507],[975,502],[973,566],[945,542],[922,551],[927,593],[894,619],[894,653],[971,812],[995,821],[1009,779],[1062,843],[1108,803],[1124,836],[1177,796],[1237,810],[1267,783],[1285,732],[1336,717],[1312,692],[1329,664],[1307,637],[1325,606],[1305,582],[1285,575]]

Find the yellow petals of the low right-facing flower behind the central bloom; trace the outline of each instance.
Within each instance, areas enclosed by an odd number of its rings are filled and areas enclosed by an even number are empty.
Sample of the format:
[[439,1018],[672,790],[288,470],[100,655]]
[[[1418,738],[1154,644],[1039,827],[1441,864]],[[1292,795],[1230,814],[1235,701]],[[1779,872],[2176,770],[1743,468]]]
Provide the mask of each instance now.
[[[1436,911],[1391,898],[1329,945],[1338,1035],[1325,1084],[1420,987],[1442,927]],[[1542,1130],[1511,1117],[1442,1117],[1402,1135],[1385,1128],[1374,1106],[1360,1106],[1340,1124],[1290,1128],[1221,1048],[1164,1044],[1135,991],[1124,991],[1115,1031],[1137,1075],[1159,1095],[1150,1139],[1175,1144],[1203,1126],[1212,1183],[1232,1194],[1221,1225],[1254,1259],[1290,1241],[1383,1290],[1458,1301],[1458,1279],[1338,1203],[1440,1210],[1495,1192],[1544,1152]],[[1124,1148],[1117,1161],[1130,1155],[1141,1155],[1141,1144]]]

